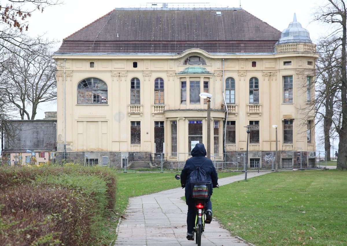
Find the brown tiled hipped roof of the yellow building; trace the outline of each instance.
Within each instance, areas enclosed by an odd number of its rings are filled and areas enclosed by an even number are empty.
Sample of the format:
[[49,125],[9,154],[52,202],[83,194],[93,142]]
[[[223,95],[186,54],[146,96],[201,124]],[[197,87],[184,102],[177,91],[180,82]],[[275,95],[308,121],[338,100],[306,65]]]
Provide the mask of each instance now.
[[115,9],[65,38],[57,53],[262,53],[273,52],[280,35],[243,9]]

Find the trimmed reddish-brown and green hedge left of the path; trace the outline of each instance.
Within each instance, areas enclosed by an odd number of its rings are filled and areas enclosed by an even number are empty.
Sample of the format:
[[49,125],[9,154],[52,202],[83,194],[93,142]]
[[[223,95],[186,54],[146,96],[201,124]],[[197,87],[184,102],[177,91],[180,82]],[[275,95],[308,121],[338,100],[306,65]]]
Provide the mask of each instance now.
[[108,168],[0,167],[0,245],[97,245],[115,206]]

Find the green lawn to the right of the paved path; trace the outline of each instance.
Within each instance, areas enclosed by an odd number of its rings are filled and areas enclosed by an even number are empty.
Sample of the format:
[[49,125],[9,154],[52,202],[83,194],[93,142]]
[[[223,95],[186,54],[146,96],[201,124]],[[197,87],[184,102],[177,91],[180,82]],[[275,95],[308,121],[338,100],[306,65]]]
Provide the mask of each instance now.
[[232,235],[255,245],[347,245],[346,171],[270,173],[221,186],[211,200]]

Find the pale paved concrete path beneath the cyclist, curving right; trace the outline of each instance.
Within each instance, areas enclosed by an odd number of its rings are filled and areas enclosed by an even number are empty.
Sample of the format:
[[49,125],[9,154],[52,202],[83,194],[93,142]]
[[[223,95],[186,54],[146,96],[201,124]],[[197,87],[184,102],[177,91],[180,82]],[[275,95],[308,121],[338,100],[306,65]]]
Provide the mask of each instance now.
[[[248,172],[247,179],[266,173],[270,172]],[[218,183],[225,185],[244,179],[245,174],[240,174],[219,179]],[[196,245],[195,241],[186,239],[188,208],[185,201],[180,199],[183,196],[184,190],[176,188],[130,198],[126,219],[117,227],[116,245]],[[217,221],[206,224],[201,245],[249,246],[231,236]]]

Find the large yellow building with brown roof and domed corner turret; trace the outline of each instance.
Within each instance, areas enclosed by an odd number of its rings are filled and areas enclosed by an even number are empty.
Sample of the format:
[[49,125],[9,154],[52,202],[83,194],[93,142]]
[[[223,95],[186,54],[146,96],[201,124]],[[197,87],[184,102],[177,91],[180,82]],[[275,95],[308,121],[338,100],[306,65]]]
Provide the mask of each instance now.
[[57,158],[114,167],[134,153],[185,161],[192,144],[207,145],[199,94],[208,92],[214,160],[243,156],[251,125],[248,163],[259,156],[264,167],[277,125],[278,150],[294,151],[280,163],[295,166],[295,152],[315,151],[317,57],[296,17],[281,32],[241,8],[114,9],[54,53]]

